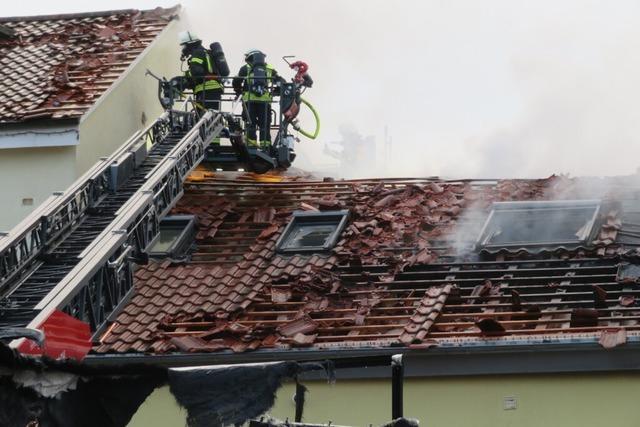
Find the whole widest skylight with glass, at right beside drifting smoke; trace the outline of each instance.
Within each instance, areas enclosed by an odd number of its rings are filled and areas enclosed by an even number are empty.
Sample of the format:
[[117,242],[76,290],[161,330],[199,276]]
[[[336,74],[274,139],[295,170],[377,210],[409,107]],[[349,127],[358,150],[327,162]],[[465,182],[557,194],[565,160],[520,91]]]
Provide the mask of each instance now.
[[477,246],[500,249],[584,244],[599,211],[599,200],[497,202]]

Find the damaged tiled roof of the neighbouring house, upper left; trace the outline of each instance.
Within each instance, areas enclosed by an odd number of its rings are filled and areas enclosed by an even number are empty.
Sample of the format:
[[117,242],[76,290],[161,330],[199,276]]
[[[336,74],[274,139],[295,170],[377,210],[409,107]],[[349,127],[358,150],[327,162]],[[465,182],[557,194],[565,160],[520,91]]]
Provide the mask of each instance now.
[[0,123],[79,118],[178,10],[0,18]]

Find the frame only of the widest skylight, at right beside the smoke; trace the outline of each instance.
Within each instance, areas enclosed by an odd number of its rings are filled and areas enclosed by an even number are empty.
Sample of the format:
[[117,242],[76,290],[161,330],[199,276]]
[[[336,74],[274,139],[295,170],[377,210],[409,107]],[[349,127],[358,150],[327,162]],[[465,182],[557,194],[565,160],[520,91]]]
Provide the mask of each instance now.
[[[594,233],[595,224],[600,214],[602,202],[598,199],[583,200],[545,200],[545,201],[526,201],[526,202],[494,202],[491,212],[487,217],[479,235],[476,239],[477,250],[498,250],[513,248],[541,248],[545,246],[579,246],[587,244]],[[588,226],[582,231],[580,236],[575,239],[557,239],[549,241],[520,241],[512,243],[491,243],[494,235],[489,234],[491,228],[495,228],[493,222],[500,212],[508,211],[510,213],[525,213],[532,211],[571,211],[578,209],[592,208],[593,213],[588,220]]]

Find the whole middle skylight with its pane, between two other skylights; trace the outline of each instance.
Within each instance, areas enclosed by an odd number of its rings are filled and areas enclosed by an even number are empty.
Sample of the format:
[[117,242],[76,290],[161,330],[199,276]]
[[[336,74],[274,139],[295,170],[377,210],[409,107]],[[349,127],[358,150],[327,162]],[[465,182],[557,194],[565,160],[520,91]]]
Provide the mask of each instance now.
[[282,253],[323,252],[333,248],[344,229],[348,210],[294,212],[276,243]]

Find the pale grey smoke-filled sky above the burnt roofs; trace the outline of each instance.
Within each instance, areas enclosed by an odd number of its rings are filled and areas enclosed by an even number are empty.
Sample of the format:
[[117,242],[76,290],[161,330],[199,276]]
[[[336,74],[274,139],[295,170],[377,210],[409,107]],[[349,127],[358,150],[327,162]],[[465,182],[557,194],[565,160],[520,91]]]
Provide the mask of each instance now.
[[[153,8],[174,1],[10,3],[4,15]],[[222,42],[235,71],[257,47],[282,74],[296,54],[316,85],[322,133],[297,166],[330,165],[348,125],[385,124],[391,157],[343,175],[531,177],[640,166],[640,2],[185,1],[188,25]],[[380,154],[380,153],[379,153]]]

